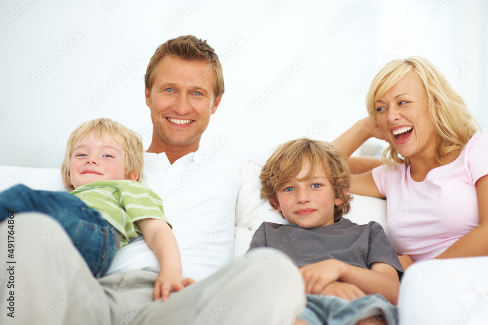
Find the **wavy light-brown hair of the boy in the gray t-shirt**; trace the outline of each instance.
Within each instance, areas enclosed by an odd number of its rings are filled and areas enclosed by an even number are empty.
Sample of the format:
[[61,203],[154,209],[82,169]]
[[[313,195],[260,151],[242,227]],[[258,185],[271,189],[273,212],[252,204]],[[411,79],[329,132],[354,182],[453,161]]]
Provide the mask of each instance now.
[[[334,207],[334,221],[351,209],[352,196],[347,193],[351,185],[351,172],[346,159],[330,143],[325,141],[299,138],[278,146],[264,164],[259,178],[261,179],[261,198],[269,200],[273,210],[273,202],[278,202],[277,192],[283,185],[298,175],[305,160],[310,162],[310,170],[303,179],[313,176],[319,164],[324,166],[336,198],[343,203]],[[283,216],[283,213],[282,213]]]

